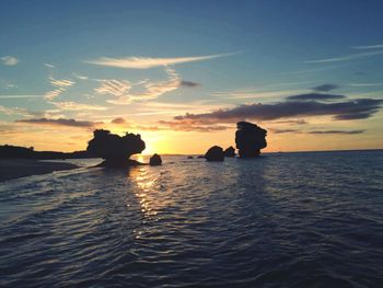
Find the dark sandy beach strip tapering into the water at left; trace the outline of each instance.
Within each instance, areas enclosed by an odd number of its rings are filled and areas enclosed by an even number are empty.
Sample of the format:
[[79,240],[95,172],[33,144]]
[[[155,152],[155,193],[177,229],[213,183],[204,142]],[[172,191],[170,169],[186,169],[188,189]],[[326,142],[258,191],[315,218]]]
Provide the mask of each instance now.
[[0,159],[0,182],[76,168],[79,166],[63,162],[44,162],[33,159]]

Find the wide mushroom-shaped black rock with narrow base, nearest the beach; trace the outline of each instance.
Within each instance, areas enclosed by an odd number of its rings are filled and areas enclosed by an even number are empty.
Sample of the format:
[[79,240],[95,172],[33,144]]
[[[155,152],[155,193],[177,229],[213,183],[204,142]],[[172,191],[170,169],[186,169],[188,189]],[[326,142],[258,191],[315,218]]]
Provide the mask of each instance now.
[[108,130],[97,129],[93,131],[93,139],[88,142],[86,151],[91,154],[105,159],[103,166],[127,166],[140,164],[129,160],[129,157],[144,150],[144,141],[141,136],[126,134],[118,136]]

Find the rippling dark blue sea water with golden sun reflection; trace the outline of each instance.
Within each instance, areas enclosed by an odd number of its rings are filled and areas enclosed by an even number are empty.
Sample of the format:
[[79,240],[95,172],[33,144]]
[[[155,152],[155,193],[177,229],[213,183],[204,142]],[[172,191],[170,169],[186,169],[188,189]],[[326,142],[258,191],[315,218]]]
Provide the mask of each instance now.
[[383,151],[163,160],[0,183],[0,287],[383,287]]

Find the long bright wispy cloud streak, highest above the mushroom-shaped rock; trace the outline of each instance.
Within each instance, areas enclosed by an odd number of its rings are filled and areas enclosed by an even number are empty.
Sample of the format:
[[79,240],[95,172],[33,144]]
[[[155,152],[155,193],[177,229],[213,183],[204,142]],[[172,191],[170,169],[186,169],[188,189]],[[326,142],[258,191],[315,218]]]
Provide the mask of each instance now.
[[127,58],[108,58],[101,57],[95,60],[85,61],[88,64],[109,66],[117,68],[130,68],[130,69],[148,69],[161,66],[171,66],[185,62],[204,61],[220,57],[227,57],[234,55],[235,53],[228,54],[214,54],[207,56],[193,56],[193,57],[177,57],[177,58],[152,58],[152,57],[127,57]]

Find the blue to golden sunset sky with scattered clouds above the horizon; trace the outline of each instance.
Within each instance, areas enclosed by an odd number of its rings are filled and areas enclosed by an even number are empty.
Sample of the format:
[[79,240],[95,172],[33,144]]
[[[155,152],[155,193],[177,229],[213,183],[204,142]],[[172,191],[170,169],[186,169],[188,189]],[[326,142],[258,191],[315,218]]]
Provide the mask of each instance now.
[[383,1],[1,1],[0,145],[144,153],[383,148]]

